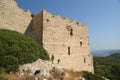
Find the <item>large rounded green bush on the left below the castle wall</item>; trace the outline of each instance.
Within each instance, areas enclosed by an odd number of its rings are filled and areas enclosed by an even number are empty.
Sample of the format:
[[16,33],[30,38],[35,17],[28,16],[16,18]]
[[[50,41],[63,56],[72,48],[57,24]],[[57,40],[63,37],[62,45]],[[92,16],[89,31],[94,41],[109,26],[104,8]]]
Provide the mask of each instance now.
[[49,56],[37,42],[16,31],[0,30],[0,67],[6,72],[38,58],[48,60]]

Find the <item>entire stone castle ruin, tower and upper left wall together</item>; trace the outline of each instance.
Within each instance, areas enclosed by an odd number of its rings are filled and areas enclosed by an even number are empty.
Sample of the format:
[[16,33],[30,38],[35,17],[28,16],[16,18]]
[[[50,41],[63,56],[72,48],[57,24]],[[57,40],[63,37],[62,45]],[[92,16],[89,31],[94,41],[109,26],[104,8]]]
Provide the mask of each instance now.
[[[5,6],[6,3],[10,7]],[[54,56],[54,63],[64,69],[94,72],[85,25],[54,16],[45,10],[32,18],[31,13],[19,9],[14,0],[1,0],[0,28],[32,37],[50,56]]]

